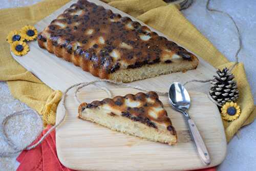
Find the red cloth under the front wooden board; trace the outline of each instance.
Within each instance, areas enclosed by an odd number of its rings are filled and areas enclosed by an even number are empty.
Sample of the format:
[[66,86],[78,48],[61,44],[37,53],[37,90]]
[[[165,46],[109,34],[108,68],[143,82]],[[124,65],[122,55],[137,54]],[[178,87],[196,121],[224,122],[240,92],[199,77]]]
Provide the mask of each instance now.
[[[44,135],[51,126],[42,131],[42,134],[32,143],[37,142],[42,135]],[[57,157],[56,152],[56,141],[55,141],[55,130],[46,137],[44,141],[34,149],[30,151],[23,151],[17,157],[17,161],[20,165],[17,168],[17,171],[72,171],[65,166],[63,166]],[[195,171],[216,171],[215,167],[199,169]]]

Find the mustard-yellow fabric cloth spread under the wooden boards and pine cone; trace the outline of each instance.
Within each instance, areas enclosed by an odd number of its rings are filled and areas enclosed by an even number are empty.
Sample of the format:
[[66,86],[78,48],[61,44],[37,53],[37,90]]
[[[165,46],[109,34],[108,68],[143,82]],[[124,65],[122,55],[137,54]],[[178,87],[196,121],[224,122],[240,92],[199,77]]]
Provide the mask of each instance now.
[[[10,30],[34,25],[53,11],[69,2],[68,0],[46,0],[29,7],[0,10],[0,80],[8,82],[12,95],[43,115],[44,123],[54,124],[55,111],[61,98],[60,91],[53,91],[32,73],[20,66],[10,55],[5,41]],[[168,5],[162,0],[105,0],[145,24],[159,30],[186,49],[202,57],[212,66],[223,69],[229,62],[179,11],[176,5]],[[227,141],[241,126],[251,123],[255,118],[253,98],[242,63],[234,68],[233,74],[238,82],[241,116],[232,122],[223,121]]]

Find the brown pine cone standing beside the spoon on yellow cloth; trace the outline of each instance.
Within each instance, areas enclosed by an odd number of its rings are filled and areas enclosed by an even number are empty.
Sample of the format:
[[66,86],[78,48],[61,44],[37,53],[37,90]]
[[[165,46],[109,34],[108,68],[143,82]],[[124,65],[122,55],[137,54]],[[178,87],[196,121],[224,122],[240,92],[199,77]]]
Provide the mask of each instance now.
[[237,82],[233,81],[234,75],[229,72],[227,68],[222,71],[217,70],[218,76],[214,76],[212,79],[210,96],[220,104],[225,104],[227,101],[235,102],[238,98],[238,86]]

